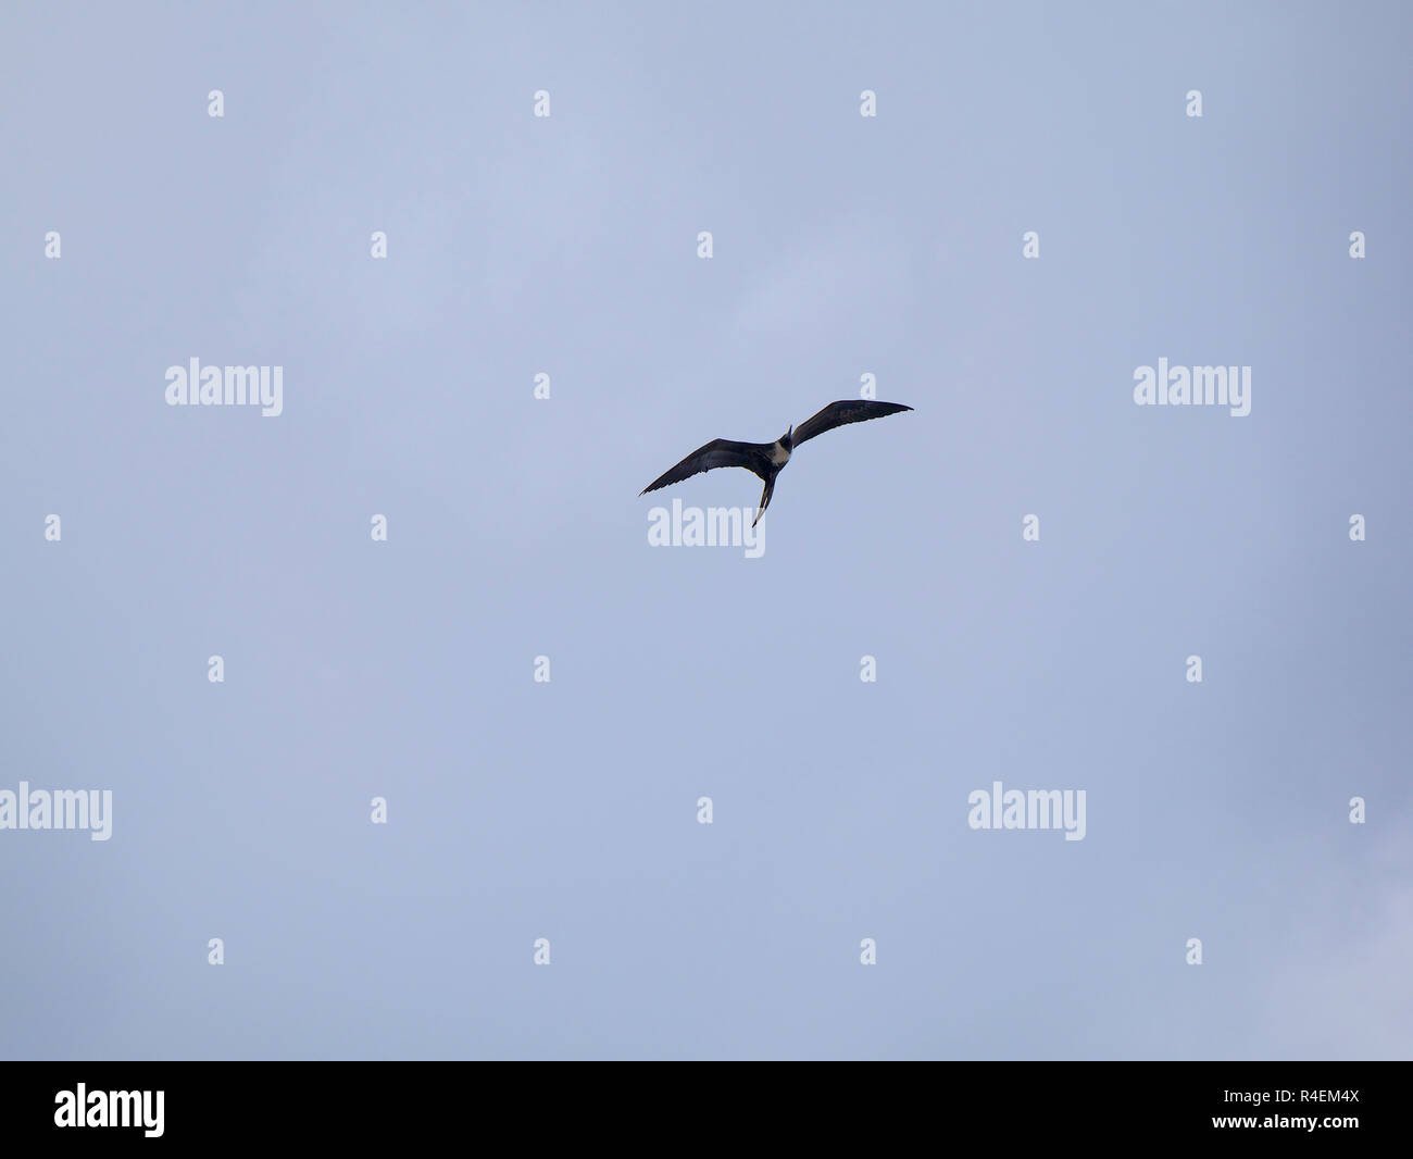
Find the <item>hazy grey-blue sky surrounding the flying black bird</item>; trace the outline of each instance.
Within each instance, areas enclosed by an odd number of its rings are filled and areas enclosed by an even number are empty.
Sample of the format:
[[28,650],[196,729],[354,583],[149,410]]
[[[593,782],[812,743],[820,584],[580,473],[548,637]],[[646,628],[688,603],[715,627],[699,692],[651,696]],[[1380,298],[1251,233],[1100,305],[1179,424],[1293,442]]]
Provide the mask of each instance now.
[[1407,1056],[1410,16],[1225,7],[8,7],[0,1053]]

